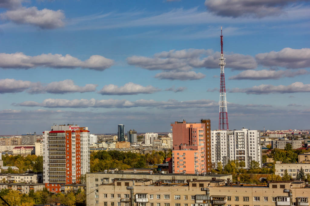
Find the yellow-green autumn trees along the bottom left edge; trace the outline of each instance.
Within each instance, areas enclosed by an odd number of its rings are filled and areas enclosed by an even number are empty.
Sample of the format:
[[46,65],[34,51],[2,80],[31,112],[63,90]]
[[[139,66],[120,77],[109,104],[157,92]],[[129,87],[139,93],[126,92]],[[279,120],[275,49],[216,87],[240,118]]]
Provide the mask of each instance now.
[[[20,194],[19,191],[2,189],[0,196],[10,205],[18,206],[33,206],[34,204],[51,204],[58,203],[68,206],[86,206],[85,191],[79,189],[75,192],[68,192],[67,194],[52,195],[46,188],[42,191],[30,191],[29,194]],[[3,201],[0,201],[1,206],[6,206]]]

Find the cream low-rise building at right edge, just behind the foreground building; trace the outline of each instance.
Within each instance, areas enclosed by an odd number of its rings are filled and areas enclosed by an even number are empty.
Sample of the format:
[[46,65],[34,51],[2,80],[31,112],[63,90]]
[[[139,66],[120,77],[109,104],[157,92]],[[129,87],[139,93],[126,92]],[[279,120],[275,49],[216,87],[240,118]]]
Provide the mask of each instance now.
[[296,178],[296,174],[300,171],[300,168],[303,168],[305,174],[310,174],[310,164],[308,163],[282,163],[281,161],[277,161],[274,165],[274,173],[282,177],[284,171],[287,170],[287,173],[292,178]]

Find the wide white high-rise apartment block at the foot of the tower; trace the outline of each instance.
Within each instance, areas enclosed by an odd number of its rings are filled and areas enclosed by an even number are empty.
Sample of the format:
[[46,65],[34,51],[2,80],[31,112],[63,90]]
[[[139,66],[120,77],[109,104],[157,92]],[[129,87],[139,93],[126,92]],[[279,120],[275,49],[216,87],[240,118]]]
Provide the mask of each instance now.
[[221,161],[225,166],[229,160],[245,161],[245,168],[252,160],[262,166],[262,149],[259,130],[215,130],[211,131],[211,163],[213,169]]

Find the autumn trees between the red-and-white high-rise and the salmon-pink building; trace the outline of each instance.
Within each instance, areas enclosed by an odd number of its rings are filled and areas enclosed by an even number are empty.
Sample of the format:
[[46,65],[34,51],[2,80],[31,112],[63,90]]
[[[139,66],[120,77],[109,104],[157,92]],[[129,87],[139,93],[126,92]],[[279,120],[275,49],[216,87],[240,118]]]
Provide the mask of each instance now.
[[120,152],[117,150],[92,152],[90,155],[91,172],[100,172],[110,168],[126,170],[129,168],[147,168],[149,165],[161,164],[172,152],[152,152],[151,154],[137,154]]

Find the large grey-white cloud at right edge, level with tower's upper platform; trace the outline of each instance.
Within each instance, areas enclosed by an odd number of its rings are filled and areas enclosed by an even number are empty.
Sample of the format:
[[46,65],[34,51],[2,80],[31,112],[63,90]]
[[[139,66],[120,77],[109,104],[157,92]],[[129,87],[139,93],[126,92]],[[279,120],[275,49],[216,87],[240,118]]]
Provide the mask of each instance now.
[[278,52],[256,54],[255,58],[259,64],[267,67],[307,68],[310,64],[310,49],[284,48]]

